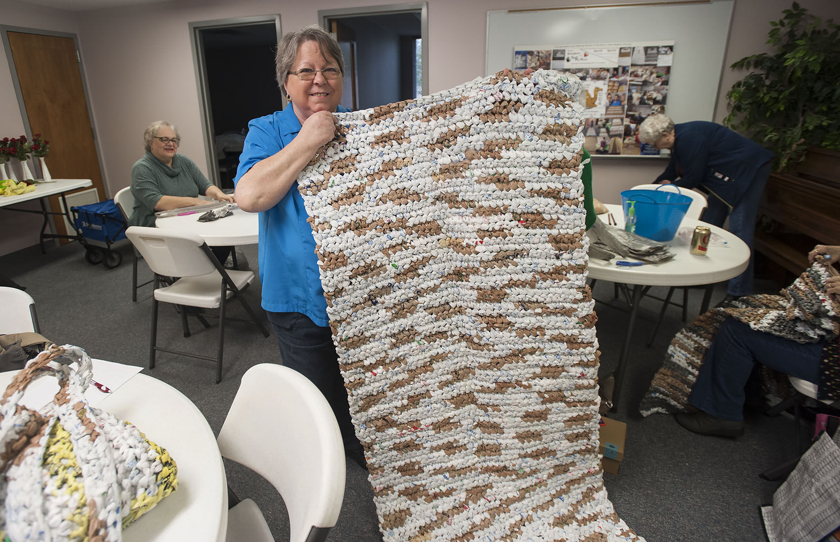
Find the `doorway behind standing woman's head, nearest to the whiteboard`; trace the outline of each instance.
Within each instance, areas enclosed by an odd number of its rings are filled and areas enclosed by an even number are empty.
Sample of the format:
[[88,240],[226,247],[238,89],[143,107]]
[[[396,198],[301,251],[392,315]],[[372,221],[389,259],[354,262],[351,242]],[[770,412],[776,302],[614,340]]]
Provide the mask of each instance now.
[[428,94],[426,3],[318,11],[344,54],[341,104],[374,108]]

